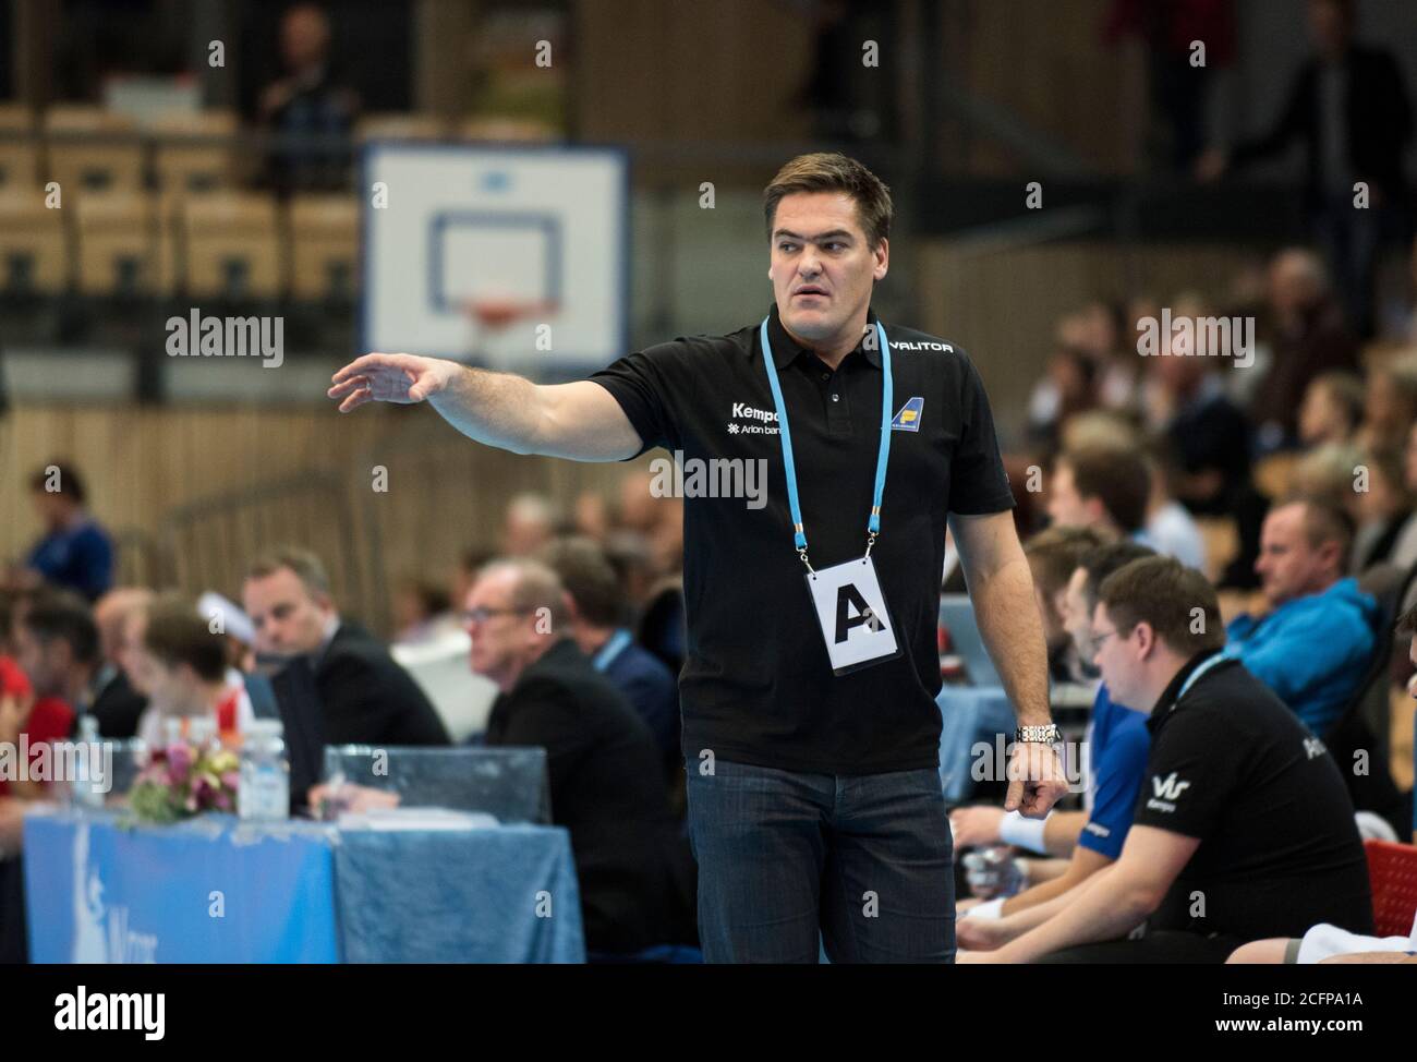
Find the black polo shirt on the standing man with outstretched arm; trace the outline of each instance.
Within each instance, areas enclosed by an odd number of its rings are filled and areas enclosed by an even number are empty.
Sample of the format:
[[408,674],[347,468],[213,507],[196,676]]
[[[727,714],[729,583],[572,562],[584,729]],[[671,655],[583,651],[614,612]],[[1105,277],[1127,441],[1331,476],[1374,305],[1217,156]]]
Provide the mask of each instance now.
[[[833,371],[788,337],[777,306],[768,328],[812,566],[860,557],[880,445],[880,352],[863,343]],[[901,654],[842,676],[832,673],[792,544],[758,322],[726,336],[660,343],[591,377],[625,410],[640,452],[665,447],[686,464],[765,462],[757,465],[767,469],[762,508],[744,498],[684,498],[689,644],[679,686],[691,761],[710,749],[730,761],[825,774],[938,764],[945,515],[1003,512],[1013,495],[989,401],[964,350],[888,323],[886,335],[893,417],[918,407],[901,418],[914,427],[891,434],[871,550]],[[686,478],[686,493],[687,485]]]

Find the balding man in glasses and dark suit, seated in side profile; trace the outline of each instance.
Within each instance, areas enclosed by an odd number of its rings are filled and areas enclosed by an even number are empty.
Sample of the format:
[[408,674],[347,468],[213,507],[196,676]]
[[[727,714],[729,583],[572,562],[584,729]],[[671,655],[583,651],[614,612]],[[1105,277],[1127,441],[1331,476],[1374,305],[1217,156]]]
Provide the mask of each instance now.
[[472,669],[502,691],[486,743],[547,751],[551,818],[571,832],[587,950],[696,944],[693,859],[655,739],[568,637],[567,604],[555,573],[530,560],[493,563],[468,591]]

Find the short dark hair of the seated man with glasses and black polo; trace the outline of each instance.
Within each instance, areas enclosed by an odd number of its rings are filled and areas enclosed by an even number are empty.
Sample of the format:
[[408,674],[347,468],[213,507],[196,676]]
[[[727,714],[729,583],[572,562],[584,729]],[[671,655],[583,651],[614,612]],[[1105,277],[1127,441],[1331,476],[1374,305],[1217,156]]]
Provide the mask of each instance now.
[[[1118,634],[1131,632],[1136,624],[1151,624],[1156,637],[1182,656],[1226,644],[1214,587],[1175,557],[1128,561],[1102,580],[1097,601],[1107,605]],[[1200,631],[1193,630],[1196,608],[1202,610]]]

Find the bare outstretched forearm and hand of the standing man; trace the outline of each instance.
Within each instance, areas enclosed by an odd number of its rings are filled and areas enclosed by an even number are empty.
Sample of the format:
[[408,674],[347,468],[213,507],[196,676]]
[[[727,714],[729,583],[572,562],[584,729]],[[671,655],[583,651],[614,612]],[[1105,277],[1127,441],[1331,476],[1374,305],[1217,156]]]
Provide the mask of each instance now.
[[329,397],[340,413],[427,401],[468,438],[514,454],[622,461],[642,447],[619,403],[591,380],[534,384],[436,357],[374,353],[340,369]]

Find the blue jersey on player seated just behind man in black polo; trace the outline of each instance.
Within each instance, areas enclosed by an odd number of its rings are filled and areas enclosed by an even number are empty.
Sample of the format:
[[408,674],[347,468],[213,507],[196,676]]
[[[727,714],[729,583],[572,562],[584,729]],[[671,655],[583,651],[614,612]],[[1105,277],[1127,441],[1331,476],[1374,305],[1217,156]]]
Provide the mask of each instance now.
[[1107,683],[1097,688],[1093,702],[1093,810],[1077,842],[1115,859],[1132,827],[1136,794],[1146,776],[1151,733],[1146,716],[1114,705]]

